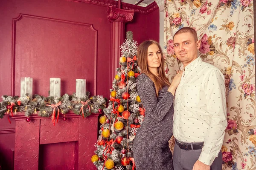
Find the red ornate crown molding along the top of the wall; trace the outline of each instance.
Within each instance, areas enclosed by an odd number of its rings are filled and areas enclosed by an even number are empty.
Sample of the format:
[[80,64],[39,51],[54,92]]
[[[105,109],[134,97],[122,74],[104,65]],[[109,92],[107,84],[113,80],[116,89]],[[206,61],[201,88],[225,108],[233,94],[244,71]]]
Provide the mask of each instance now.
[[[118,1],[115,1],[115,0],[73,0],[73,1],[90,3],[90,4],[106,6],[106,7],[109,7],[109,6],[114,6],[116,8],[118,7]],[[122,3],[121,6],[122,6],[121,7],[122,9],[133,10],[134,12],[138,12],[141,14],[149,14],[150,12],[158,8],[157,3],[155,1],[146,7],[136,6],[129,3]]]

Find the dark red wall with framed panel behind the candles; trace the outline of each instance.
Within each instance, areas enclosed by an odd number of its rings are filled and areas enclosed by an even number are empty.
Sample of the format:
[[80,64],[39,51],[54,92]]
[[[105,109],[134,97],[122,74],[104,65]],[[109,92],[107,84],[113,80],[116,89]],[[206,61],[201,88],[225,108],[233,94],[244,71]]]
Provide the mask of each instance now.
[[[83,78],[91,95],[109,97],[107,9],[73,0],[0,1],[0,96],[20,95],[20,77],[33,77],[33,94],[47,96],[49,78],[56,77],[61,78],[61,95],[75,92],[75,79]],[[135,12],[125,31],[132,31],[139,44],[159,41],[159,10]],[[2,170],[13,169],[15,120],[11,121],[7,116],[0,119]]]

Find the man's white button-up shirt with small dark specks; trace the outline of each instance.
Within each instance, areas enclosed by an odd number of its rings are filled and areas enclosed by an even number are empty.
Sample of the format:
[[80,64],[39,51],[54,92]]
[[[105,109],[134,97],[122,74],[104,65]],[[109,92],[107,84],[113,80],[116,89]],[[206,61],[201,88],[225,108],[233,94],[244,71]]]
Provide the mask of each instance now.
[[211,165],[227,127],[224,76],[200,57],[180,69],[183,75],[175,92],[173,135],[178,141],[204,142],[198,160]]

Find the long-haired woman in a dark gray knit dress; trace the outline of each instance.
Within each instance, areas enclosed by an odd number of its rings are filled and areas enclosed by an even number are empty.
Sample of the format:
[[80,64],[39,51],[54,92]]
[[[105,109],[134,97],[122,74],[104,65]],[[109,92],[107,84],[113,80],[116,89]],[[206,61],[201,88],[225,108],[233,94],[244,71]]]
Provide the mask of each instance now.
[[146,112],[133,143],[136,170],[173,170],[168,141],[172,136],[172,103],[182,74],[169,83],[163,52],[153,40],[140,44],[137,58],[142,73],[137,77],[137,91]]

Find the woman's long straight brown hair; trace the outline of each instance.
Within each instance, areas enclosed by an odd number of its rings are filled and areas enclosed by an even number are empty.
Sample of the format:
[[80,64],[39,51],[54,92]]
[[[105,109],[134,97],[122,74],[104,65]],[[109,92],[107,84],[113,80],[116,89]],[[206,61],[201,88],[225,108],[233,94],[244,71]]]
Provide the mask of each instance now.
[[[148,47],[152,44],[156,44],[158,46],[162,55],[161,63],[160,63],[160,66],[158,67],[159,76],[154,75],[148,69],[148,63],[147,63]],[[160,89],[162,89],[166,85],[168,86],[171,85],[168,78],[166,78],[166,75],[164,72],[163,51],[159,43],[157,43],[154,40],[147,40],[141,43],[140,46],[138,47],[137,58],[138,58],[138,64],[140,66],[141,73],[144,73],[145,75],[147,75],[154,82],[154,85],[156,88],[156,94],[158,96],[158,92]]]

